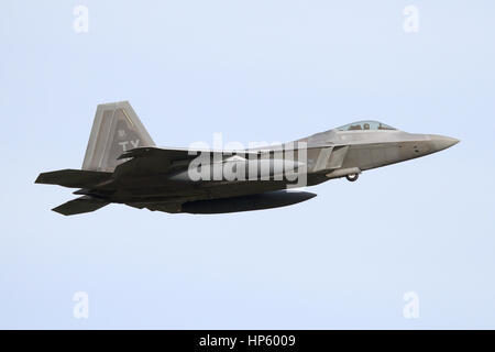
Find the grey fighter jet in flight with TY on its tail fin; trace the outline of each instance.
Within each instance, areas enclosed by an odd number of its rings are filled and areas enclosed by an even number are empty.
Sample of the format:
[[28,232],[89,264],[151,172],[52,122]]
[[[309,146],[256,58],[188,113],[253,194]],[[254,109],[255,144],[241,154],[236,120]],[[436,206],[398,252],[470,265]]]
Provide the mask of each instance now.
[[52,209],[64,216],[111,202],[169,213],[237,212],[306,201],[316,195],[294,187],[355,182],[364,170],[458,142],[359,121],[264,147],[156,147],[131,105],[120,101],[98,106],[81,169],[42,173],[35,183],[78,188],[81,197]]

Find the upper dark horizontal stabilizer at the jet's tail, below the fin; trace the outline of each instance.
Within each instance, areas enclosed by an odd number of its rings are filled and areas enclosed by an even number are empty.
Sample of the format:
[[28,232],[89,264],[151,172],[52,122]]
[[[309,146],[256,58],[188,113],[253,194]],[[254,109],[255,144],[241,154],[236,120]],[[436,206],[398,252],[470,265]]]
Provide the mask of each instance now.
[[59,185],[70,188],[91,188],[95,185],[110,179],[111,176],[111,173],[67,168],[56,172],[42,173],[37,176],[35,183]]

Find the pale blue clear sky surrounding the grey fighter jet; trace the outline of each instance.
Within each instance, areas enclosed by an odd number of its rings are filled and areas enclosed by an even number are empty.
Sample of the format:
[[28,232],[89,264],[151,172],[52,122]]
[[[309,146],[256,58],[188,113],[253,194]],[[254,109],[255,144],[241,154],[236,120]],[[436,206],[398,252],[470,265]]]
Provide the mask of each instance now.
[[[89,9],[75,33],[73,9]],[[403,10],[419,9],[405,33]],[[2,1],[0,328],[495,328],[493,1]],[[219,216],[63,217],[96,106],[158,145],[354,120],[462,142]],[[89,319],[73,317],[75,292]],[[403,295],[419,318],[403,317]]]

